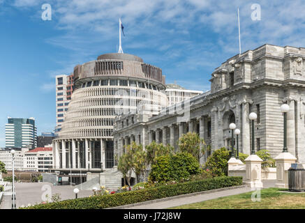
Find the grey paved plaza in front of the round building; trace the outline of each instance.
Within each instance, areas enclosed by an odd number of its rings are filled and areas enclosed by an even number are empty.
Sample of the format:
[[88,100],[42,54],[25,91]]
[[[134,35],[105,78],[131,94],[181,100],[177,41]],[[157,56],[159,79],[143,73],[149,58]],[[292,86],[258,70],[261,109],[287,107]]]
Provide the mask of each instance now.
[[[27,206],[29,203],[41,203],[42,196],[46,192],[47,187],[51,189],[52,194],[60,194],[61,200],[74,199],[74,187],[70,185],[53,186],[52,183],[16,183],[16,207]],[[80,190],[78,197],[89,197],[93,194],[91,190]],[[4,196],[0,205],[0,209],[9,209],[12,207],[12,196]]]

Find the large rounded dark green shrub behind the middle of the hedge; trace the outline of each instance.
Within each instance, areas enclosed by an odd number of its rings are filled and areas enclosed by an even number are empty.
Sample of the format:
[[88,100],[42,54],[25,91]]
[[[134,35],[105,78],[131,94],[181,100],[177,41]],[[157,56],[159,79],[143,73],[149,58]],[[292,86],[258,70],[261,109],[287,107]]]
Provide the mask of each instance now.
[[179,182],[193,174],[200,174],[200,164],[190,153],[163,155],[151,166],[149,181],[164,184],[170,181]]

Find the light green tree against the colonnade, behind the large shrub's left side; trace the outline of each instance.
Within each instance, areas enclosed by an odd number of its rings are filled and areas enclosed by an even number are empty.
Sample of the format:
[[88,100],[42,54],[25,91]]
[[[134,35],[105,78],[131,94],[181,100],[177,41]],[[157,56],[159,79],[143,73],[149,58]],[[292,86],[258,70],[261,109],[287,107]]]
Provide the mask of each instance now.
[[151,144],[145,146],[147,153],[147,164],[156,164],[157,157],[161,155],[168,155],[174,152],[174,147],[170,145],[156,144],[156,141],[153,141]]

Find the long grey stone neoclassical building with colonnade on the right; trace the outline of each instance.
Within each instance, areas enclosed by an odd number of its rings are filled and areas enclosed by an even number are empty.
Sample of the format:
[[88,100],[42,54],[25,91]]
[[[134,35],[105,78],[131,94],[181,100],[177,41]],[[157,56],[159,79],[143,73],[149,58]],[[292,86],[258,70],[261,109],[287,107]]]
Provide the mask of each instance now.
[[[211,151],[229,146],[230,123],[241,130],[239,148],[251,151],[251,112],[255,121],[255,151],[267,149],[273,157],[283,150],[283,103],[288,113],[288,151],[305,162],[305,48],[262,45],[233,56],[211,74],[211,91],[158,114],[117,116],[114,150],[136,141],[143,148],[151,141],[171,144],[186,132],[198,132]],[[131,122],[133,120],[133,122]],[[204,162],[204,159],[202,160]]]

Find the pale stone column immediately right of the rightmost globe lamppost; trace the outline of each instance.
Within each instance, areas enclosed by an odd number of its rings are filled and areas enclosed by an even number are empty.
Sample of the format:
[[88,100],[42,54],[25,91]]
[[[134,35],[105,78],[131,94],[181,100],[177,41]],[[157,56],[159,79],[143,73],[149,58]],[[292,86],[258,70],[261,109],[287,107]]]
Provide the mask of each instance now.
[[289,103],[290,110],[287,114],[287,148],[288,153],[295,156],[295,101]]

